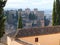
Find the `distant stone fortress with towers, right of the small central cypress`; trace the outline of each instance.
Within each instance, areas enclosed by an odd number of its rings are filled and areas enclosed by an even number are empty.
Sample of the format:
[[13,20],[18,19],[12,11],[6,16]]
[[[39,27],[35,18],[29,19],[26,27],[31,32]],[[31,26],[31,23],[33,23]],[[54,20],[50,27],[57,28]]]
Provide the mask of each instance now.
[[[35,17],[37,17],[37,19],[34,20],[30,20],[29,19],[29,15],[34,14]],[[33,11],[31,11],[29,8],[25,9],[24,11],[21,9],[18,10],[18,16],[21,15],[22,17],[22,23],[23,23],[23,28],[26,27],[26,24],[28,25],[28,22],[31,22],[32,26],[28,26],[28,27],[43,27],[44,26],[44,11],[38,11],[38,9],[34,9]],[[33,18],[33,17],[32,17]],[[30,24],[30,23],[29,23]]]

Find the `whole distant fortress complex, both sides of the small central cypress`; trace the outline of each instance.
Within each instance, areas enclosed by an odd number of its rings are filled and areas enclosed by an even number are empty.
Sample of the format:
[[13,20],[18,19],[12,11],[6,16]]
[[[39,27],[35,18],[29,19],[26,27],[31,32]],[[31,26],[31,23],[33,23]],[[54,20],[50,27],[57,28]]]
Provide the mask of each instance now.
[[21,15],[23,28],[44,26],[44,11],[38,11],[38,9],[32,11],[29,8],[25,10],[8,10],[4,14],[7,16],[7,23],[9,25],[17,26],[18,18]]

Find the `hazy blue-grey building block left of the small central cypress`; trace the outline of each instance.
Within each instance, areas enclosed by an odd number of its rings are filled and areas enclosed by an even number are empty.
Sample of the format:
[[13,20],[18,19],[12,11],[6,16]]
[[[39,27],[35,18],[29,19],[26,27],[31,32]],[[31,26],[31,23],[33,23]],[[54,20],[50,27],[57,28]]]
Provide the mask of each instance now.
[[17,26],[18,13],[16,10],[7,10],[4,13],[7,17],[6,23],[10,26]]

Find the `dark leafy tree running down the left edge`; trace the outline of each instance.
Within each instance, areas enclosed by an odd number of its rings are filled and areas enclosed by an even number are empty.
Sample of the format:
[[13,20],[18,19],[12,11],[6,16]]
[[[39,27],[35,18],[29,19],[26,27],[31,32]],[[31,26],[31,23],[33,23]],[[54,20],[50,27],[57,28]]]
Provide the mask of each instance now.
[[3,37],[3,35],[5,34],[5,25],[4,22],[6,20],[4,14],[3,14],[3,7],[6,4],[6,1],[0,0],[0,42],[1,42],[1,38]]

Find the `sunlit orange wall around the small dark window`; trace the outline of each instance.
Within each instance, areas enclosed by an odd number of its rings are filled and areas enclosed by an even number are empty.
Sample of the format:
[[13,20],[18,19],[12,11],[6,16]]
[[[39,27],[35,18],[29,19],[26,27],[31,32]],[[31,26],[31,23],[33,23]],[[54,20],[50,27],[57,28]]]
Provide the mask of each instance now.
[[[35,38],[38,38],[38,42],[35,42]],[[34,45],[59,45],[60,43],[60,33],[49,34],[49,35],[40,35],[40,36],[29,36],[19,38],[20,40],[30,42]]]

